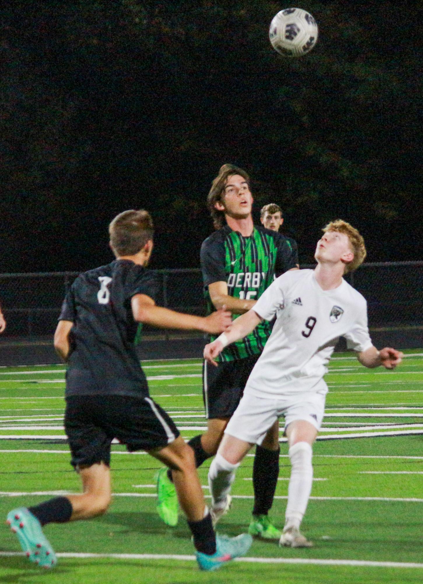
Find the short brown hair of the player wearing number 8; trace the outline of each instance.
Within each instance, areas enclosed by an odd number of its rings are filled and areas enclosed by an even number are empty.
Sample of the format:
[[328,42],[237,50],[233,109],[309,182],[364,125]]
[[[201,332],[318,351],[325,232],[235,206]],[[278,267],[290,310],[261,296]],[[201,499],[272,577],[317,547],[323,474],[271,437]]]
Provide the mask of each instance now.
[[124,211],[109,225],[110,247],[114,255],[135,255],[153,239],[153,220],[144,209]]

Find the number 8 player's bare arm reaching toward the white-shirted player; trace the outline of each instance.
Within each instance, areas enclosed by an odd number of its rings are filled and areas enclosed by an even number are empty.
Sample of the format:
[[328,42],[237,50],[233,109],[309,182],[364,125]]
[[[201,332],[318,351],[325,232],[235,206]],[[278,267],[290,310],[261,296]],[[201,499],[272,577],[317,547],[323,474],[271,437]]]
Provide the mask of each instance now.
[[160,328],[218,334],[224,331],[231,322],[230,312],[225,307],[208,317],[197,317],[193,314],[183,314],[156,306],[152,298],[145,294],[135,294],[131,300],[131,307],[135,321]]

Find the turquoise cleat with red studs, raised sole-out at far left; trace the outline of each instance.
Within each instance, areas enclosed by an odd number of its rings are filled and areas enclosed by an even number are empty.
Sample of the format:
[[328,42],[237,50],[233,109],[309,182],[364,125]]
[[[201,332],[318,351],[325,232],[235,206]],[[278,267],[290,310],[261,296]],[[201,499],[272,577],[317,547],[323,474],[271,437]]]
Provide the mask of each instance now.
[[6,523],[18,537],[30,562],[40,568],[53,568],[57,564],[56,554],[44,536],[39,520],[26,507],[9,512]]

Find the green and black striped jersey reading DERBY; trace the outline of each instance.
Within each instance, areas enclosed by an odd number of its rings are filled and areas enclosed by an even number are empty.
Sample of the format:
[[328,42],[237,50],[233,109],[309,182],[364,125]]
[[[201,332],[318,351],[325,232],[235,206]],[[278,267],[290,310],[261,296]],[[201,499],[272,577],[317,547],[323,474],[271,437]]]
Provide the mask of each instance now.
[[[201,271],[208,312],[215,310],[208,286],[225,281],[228,294],[235,298],[256,300],[280,276],[298,264],[294,239],[276,231],[254,226],[250,237],[243,237],[229,225],[215,231],[201,246]],[[234,314],[232,318],[237,318]],[[262,321],[254,331],[222,351],[219,360],[244,359],[261,353],[270,336],[272,324]],[[213,336],[211,340],[215,339]]]

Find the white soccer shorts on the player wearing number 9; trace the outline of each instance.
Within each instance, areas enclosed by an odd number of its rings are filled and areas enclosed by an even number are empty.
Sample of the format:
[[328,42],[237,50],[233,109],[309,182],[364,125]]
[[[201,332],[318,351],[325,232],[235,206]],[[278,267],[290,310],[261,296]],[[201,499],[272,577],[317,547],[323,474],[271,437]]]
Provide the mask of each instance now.
[[225,434],[260,446],[267,430],[281,416],[285,418],[285,428],[295,420],[305,420],[320,430],[325,401],[326,389],[279,399],[244,394],[226,426]]

